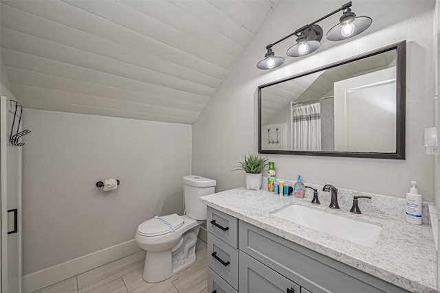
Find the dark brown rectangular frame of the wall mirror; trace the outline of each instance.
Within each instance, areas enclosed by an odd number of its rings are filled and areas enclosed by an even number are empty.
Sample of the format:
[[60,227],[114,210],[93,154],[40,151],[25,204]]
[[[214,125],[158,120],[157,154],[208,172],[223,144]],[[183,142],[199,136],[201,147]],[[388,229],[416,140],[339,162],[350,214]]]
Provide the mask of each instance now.
[[[396,76],[396,152],[327,152],[327,151],[296,151],[296,150],[262,150],[261,149],[261,89],[285,82],[287,80],[293,80],[294,78],[300,78],[301,76],[316,73],[325,69],[336,67],[338,65],[344,65],[349,62],[367,58],[376,54],[381,54],[386,51],[397,50],[397,76]],[[306,71],[283,80],[263,84],[258,88],[258,139],[259,139],[259,153],[260,154],[295,154],[304,156],[345,156],[355,158],[371,158],[371,159],[405,159],[405,111],[406,111],[406,40],[401,43],[389,45],[375,51],[370,51],[366,54],[354,56],[353,58],[347,58],[338,62],[331,63],[330,65],[324,65],[311,71]]]

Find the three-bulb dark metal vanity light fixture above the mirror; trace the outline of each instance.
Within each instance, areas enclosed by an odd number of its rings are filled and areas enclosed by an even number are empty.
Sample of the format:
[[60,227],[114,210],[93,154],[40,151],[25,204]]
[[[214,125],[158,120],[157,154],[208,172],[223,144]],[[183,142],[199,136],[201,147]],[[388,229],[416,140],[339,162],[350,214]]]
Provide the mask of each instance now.
[[300,57],[316,51],[321,45],[320,40],[322,39],[323,34],[322,27],[316,23],[322,21],[323,19],[327,19],[327,17],[332,16],[340,11],[343,12],[339,20],[340,23],[332,27],[331,30],[327,32],[327,40],[346,40],[347,38],[352,38],[353,36],[364,32],[370,27],[373,20],[367,16],[356,17],[356,14],[351,11],[351,5],[351,1],[345,3],[340,8],[327,14],[326,16],[321,17],[313,23],[300,27],[292,34],[277,40],[275,43],[267,45],[267,53],[265,54],[265,58],[261,60],[256,67],[259,69],[274,69],[283,65],[285,61],[284,58],[275,56],[274,52],[272,51],[272,47],[283,42],[283,40],[290,38],[291,36],[297,37],[296,44],[287,49],[287,56]]

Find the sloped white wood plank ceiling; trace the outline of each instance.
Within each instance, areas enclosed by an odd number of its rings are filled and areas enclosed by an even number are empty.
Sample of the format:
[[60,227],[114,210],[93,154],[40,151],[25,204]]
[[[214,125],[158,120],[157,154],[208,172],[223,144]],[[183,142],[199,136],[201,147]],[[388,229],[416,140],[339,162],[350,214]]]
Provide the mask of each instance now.
[[1,1],[1,56],[25,108],[191,124],[276,3]]

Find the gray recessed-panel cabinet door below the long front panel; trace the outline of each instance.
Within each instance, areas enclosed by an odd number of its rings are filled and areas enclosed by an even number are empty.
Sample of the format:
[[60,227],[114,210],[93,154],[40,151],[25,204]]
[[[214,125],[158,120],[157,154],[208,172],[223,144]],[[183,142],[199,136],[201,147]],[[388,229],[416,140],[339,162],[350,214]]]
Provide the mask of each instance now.
[[240,251],[240,293],[300,293],[300,286]]

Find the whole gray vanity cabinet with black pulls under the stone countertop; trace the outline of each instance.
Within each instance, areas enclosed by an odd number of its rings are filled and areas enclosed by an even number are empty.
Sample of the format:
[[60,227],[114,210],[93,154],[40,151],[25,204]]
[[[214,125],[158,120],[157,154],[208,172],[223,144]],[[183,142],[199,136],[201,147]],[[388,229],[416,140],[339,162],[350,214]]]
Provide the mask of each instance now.
[[210,207],[207,226],[208,293],[408,293]]

